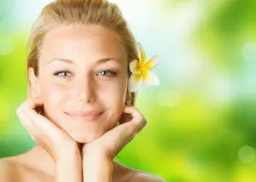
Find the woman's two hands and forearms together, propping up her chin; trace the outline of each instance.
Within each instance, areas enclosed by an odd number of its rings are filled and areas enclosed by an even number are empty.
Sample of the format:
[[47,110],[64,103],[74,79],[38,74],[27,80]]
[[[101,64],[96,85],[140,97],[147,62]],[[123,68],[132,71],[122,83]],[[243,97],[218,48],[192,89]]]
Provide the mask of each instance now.
[[18,108],[17,115],[32,139],[54,159],[57,182],[83,181],[82,166],[84,181],[112,181],[113,157],[147,123],[135,107],[125,107],[124,112],[132,115],[131,121],[125,121],[127,117],[123,117],[117,128],[84,144],[80,150],[79,144],[66,132],[35,111],[37,105],[43,103],[38,100],[26,100]]

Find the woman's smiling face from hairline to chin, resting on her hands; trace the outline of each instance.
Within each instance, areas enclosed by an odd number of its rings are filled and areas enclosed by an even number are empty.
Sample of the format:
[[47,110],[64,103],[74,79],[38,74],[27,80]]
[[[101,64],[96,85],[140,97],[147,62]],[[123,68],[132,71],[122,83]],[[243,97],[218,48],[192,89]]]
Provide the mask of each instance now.
[[[127,91],[127,56],[121,37],[103,26],[58,26],[44,37],[36,87],[45,116],[79,143],[119,121]],[[96,120],[87,111],[103,112]]]

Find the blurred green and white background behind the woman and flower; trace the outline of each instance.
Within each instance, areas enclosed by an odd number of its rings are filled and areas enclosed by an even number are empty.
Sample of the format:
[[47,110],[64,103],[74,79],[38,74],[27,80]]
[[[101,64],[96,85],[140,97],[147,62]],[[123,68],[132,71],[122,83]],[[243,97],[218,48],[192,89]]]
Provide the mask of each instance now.
[[[26,100],[26,43],[49,0],[0,1],[0,157],[35,143],[15,115]],[[160,86],[143,86],[148,125],[116,159],[166,181],[256,180],[256,1],[115,0]]]

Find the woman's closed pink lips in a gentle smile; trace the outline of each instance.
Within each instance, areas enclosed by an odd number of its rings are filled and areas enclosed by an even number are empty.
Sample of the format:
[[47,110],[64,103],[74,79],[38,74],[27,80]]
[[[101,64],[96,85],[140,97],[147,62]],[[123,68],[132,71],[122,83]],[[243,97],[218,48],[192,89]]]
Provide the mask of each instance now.
[[72,112],[72,113],[67,113],[67,116],[69,117],[72,117],[73,119],[75,120],[79,120],[79,121],[82,121],[82,122],[92,122],[92,121],[95,121],[96,119],[98,119],[99,117],[102,116],[102,112],[99,112],[99,111],[88,111],[88,112],[85,112],[85,113],[78,113],[78,112]]

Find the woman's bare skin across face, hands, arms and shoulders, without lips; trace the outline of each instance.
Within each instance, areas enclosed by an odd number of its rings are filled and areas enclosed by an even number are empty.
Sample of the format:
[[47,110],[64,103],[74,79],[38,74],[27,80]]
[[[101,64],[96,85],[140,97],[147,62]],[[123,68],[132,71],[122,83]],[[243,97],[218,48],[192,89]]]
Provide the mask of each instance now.
[[[0,172],[1,181],[164,181],[113,160],[147,123],[135,106],[124,105],[126,57],[121,38],[106,27],[62,25],[49,31],[39,76],[29,69],[31,91],[16,111],[37,145],[0,160],[0,168],[8,168]],[[65,114],[76,110],[104,112],[94,122]]]

